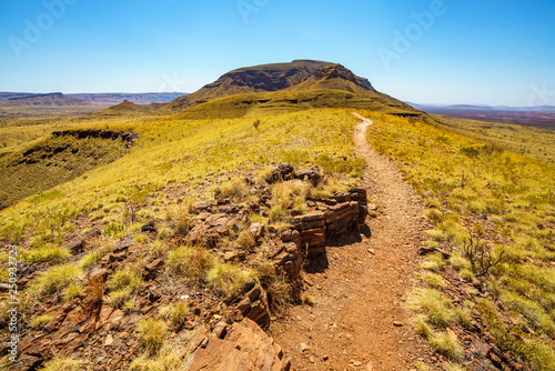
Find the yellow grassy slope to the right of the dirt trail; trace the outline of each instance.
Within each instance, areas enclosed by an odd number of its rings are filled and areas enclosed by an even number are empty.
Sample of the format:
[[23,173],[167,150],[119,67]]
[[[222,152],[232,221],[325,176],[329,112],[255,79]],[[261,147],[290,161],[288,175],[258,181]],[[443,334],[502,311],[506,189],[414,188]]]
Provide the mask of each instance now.
[[[475,313],[487,342],[533,370],[554,370],[555,167],[443,128],[367,116],[372,146],[397,161],[430,208],[430,244],[452,253],[446,267],[441,255],[424,264],[436,294],[422,291],[415,300],[421,333],[441,347],[437,331]],[[467,281],[467,300],[453,298],[434,272]]]

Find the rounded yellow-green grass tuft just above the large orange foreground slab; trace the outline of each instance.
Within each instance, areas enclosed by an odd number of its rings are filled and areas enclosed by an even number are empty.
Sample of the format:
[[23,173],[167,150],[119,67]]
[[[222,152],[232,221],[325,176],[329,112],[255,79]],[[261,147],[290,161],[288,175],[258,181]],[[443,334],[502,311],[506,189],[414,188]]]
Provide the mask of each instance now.
[[244,271],[236,265],[216,261],[206,272],[206,283],[218,294],[229,298],[241,291],[254,275],[254,271]]

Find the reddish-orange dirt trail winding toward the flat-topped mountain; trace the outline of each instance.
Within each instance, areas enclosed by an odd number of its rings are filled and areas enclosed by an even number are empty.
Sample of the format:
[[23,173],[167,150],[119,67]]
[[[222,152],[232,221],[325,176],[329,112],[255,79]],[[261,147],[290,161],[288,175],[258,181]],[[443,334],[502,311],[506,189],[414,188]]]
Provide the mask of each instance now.
[[366,160],[363,187],[380,215],[366,221],[370,231],[337,241],[311,262],[305,278],[315,304],[293,307],[272,324],[292,370],[412,370],[417,360],[433,360],[405,309],[427,228],[423,209],[396,169],[367,143],[372,121],[353,114],[362,120],[354,142]]

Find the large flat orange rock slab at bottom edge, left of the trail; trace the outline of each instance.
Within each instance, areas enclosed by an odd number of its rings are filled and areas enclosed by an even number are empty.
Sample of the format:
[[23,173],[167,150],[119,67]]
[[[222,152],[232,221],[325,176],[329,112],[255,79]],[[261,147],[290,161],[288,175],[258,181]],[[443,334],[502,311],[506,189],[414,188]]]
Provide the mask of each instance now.
[[281,347],[249,319],[232,325],[219,323],[210,335],[198,332],[191,348],[195,353],[190,371],[291,370]]

